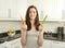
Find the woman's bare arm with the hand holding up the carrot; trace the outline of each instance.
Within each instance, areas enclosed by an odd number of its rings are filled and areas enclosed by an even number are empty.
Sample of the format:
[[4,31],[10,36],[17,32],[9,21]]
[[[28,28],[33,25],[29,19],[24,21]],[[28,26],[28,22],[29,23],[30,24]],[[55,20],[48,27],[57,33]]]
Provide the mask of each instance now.
[[26,45],[26,29],[27,29],[27,25],[25,24],[25,21],[22,20],[22,45],[25,46]]

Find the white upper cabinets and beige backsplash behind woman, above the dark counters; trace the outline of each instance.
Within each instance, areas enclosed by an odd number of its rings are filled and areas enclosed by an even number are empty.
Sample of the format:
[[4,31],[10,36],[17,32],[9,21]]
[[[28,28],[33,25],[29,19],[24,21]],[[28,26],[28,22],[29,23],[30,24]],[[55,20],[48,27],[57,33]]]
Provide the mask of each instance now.
[[25,17],[26,10],[31,4],[37,7],[40,21],[48,14],[43,29],[56,33],[57,26],[65,27],[64,2],[65,0],[0,0],[0,33],[9,28],[21,29],[21,16]]

